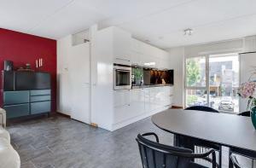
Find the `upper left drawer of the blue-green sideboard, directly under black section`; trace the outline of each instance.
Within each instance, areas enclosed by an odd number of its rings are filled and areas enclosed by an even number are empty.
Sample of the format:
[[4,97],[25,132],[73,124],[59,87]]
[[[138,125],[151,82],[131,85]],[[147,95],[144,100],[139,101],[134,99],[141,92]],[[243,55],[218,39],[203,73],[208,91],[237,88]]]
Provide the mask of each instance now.
[[14,105],[29,102],[29,91],[4,91],[3,104]]

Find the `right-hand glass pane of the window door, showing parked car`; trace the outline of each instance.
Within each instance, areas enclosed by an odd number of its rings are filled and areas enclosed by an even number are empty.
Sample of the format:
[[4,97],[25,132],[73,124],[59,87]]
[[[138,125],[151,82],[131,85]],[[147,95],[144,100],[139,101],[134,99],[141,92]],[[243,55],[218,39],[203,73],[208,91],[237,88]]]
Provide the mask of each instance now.
[[209,99],[212,107],[224,113],[238,113],[239,56],[209,56]]

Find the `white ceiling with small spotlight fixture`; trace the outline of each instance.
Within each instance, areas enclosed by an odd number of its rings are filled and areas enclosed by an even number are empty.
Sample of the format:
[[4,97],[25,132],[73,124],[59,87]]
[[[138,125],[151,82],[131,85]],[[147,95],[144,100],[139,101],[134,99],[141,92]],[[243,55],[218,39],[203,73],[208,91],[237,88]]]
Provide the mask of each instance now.
[[255,9],[256,0],[0,0],[0,27],[58,39],[97,23],[166,49],[254,35]]

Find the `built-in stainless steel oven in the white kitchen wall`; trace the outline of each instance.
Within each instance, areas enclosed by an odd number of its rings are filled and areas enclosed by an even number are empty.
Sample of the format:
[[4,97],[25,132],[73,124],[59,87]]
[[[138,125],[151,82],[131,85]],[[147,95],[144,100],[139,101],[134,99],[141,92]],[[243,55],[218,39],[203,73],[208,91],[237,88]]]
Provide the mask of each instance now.
[[113,90],[131,90],[131,66],[113,64]]

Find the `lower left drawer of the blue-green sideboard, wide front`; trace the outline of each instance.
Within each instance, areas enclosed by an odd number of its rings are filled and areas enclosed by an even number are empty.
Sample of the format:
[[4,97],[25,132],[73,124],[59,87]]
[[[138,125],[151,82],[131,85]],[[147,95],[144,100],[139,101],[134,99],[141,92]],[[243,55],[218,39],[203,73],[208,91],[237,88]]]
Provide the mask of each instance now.
[[29,115],[29,104],[11,105],[4,106],[3,109],[6,111],[7,119]]

